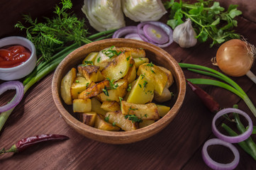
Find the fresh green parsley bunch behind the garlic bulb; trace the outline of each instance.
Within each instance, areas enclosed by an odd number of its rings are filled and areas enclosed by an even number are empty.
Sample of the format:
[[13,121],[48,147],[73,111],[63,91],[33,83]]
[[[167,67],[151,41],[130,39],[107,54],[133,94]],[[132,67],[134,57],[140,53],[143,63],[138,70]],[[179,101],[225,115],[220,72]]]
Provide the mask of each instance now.
[[200,42],[206,42],[210,38],[213,40],[211,47],[230,39],[240,38],[233,30],[238,26],[235,16],[242,14],[237,7],[238,5],[230,5],[225,11],[219,2],[212,0],[198,0],[194,4],[186,4],[182,0],[165,2],[165,8],[170,10],[170,19],[167,21],[169,26],[174,29],[190,18],[197,33],[196,38]]

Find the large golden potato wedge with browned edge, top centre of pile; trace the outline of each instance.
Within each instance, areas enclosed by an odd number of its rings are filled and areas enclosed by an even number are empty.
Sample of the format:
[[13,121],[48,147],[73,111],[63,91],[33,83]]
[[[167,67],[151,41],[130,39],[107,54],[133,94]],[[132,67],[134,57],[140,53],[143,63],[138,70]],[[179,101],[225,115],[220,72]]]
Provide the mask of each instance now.
[[101,71],[101,74],[105,78],[117,81],[126,76],[130,69],[130,60],[132,60],[130,52],[122,52]]

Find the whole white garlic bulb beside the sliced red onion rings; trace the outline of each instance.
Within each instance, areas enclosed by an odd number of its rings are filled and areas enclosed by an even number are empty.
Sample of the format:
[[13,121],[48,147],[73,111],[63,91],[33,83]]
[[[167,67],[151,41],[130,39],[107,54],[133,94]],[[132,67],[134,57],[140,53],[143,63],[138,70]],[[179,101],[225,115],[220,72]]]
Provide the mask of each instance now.
[[174,28],[172,36],[174,42],[177,42],[180,47],[193,47],[197,42],[196,32],[194,31],[189,18],[185,23]]

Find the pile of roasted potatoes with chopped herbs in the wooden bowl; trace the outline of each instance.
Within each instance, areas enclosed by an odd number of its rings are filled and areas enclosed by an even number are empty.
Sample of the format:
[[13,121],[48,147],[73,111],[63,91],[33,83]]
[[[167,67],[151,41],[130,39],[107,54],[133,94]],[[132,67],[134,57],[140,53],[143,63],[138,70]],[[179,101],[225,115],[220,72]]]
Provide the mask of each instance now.
[[143,49],[106,47],[90,52],[60,84],[66,105],[82,123],[100,130],[130,131],[160,120],[170,110],[172,72],[150,62]]

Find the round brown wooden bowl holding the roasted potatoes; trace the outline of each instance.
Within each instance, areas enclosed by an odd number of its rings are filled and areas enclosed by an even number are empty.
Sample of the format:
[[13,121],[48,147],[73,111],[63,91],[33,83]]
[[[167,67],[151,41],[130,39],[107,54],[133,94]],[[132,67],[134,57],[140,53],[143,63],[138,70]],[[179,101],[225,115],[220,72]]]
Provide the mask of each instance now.
[[[100,50],[103,50],[106,47],[111,47],[112,45],[116,47],[143,48],[146,52],[146,57],[150,59],[150,62],[165,67],[172,72],[174,84],[171,87],[171,91],[174,91],[175,97],[172,98],[172,100],[168,103],[165,103],[165,105],[171,107],[171,110],[167,113],[167,115],[160,118],[160,120],[157,120],[157,122],[153,123],[152,125],[138,130],[126,132],[109,132],[99,130],[92,128],[89,125],[85,125],[74,118],[72,113],[69,113],[70,111],[68,111],[69,109],[67,108],[66,104],[62,101],[60,96],[60,82],[65,74],[67,74],[72,67],[77,67],[78,64],[82,63],[82,60],[89,54],[89,52],[99,52]],[[177,61],[174,60],[171,55],[165,52],[165,50],[162,50],[162,48],[156,47],[148,42],[130,39],[99,40],[79,47],[77,50],[74,50],[74,52],[67,55],[64,60],[62,60],[55,70],[55,74],[52,79],[52,97],[55,101],[55,105],[57,106],[57,110],[60,112],[60,115],[62,115],[65,122],[85,137],[111,144],[127,144],[137,142],[140,140],[145,140],[146,138],[155,135],[157,132],[160,132],[160,130],[165,128],[179,112],[179,109],[182,107],[182,103],[184,101],[185,92],[186,81],[184,79],[184,74]]]

